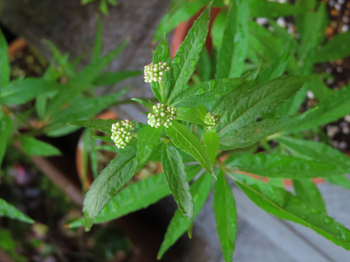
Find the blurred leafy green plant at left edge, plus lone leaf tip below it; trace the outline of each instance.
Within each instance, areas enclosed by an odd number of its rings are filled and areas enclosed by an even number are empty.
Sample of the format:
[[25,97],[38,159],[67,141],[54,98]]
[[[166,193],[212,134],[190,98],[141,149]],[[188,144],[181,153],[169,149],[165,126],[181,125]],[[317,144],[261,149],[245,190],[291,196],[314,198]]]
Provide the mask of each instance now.
[[[56,147],[35,137],[69,134],[78,128],[67,126],[67,121],[94,117],[119,103],[117,100],[127,92],[127,88],[112,95],[96,96],[97,87],[137,76],[141,71],[103,72],[127,42],[124,41],[105,56],[100,56],[101,34],[101,23],[98,21],[91,63],[82,70],[77,70],[81,57],[70,62],[69,54],[62,55],[48,42],[54,58],[43,77],[20,77],[10,81],[7,43],[0,31],[0,165],[11,145],[18,145],[28,155],[60,155],[61,152]],[[3,199],[0,199],[0,216],[34,223]]]

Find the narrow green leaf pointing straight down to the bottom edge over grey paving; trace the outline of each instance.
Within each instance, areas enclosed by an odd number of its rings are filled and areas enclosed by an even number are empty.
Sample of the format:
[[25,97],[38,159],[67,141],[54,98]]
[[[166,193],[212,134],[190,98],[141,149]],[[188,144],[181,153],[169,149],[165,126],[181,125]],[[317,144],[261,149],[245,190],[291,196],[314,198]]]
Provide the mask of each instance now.
[[224,261],[230,262],[235,250],[237,213],[232,189],[223,173],[218,174],[214,184],[213,208]]

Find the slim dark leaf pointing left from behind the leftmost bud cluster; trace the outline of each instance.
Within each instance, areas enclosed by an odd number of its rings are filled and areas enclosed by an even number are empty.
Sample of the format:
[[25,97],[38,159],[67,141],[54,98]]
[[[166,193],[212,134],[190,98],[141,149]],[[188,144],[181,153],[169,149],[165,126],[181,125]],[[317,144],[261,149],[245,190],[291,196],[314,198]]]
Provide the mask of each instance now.
[[[117,119],[87,119],[76,122],[68,123],[69,125],[84,126],[85,128],[92,128],[93,130],[101,131],[103,133],[112,134],[112,124],[119,122]],[[142,125],[140,123],[135,124],[135,132],[140,131]]]

